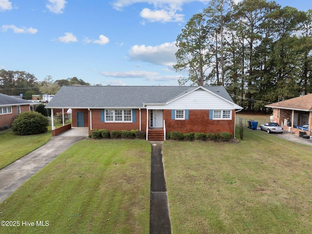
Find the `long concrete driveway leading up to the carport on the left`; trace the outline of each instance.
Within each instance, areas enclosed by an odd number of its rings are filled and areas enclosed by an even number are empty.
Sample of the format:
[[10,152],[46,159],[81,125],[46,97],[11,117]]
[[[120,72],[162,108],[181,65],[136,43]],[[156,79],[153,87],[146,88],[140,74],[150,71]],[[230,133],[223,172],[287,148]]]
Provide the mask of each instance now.
[[61,152],[88,136],[88,128],[72,128],[0,170],[0,202]]

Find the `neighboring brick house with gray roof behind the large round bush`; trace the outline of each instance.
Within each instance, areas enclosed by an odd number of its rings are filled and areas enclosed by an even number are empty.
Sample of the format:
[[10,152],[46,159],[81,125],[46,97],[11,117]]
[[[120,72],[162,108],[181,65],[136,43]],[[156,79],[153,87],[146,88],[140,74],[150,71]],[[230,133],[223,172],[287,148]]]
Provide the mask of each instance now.
[[33,109],[33,105],[27,100],[0,93],[0,128],[11,126],[19,113]]

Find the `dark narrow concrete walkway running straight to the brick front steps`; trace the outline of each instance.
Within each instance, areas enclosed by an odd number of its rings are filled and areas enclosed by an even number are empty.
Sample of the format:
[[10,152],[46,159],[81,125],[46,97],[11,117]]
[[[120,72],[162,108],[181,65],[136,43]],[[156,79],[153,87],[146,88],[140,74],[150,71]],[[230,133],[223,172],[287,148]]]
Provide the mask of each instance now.
[[163,141],[150,141],[151,158],[151,198],[150,234],[172,234],[165,171],[162,160]]

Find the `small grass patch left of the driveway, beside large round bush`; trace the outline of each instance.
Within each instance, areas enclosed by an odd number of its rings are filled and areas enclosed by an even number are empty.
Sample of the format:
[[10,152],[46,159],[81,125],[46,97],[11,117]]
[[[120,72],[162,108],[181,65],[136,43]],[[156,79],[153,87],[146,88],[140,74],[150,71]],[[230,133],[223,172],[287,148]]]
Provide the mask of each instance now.
[[51,127],[48,129],[46,133],[29,136],[14,135],[11,129],[0,131],[0,169],[47,143],[52,136]]

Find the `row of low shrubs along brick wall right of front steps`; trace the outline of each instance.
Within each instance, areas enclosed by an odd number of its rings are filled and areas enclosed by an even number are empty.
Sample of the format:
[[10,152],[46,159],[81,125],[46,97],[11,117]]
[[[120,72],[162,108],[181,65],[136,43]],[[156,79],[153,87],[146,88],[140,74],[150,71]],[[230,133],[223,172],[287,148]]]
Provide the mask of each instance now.
[[166,139],[171,140],[185,140],[185,141],[230,141],[233,138],[233,135],[228,132],[218,132],[218,133],[203,133],[203,132],[190,132],[190,133],[181,133],[178,131],[168,132],[166,134]]

